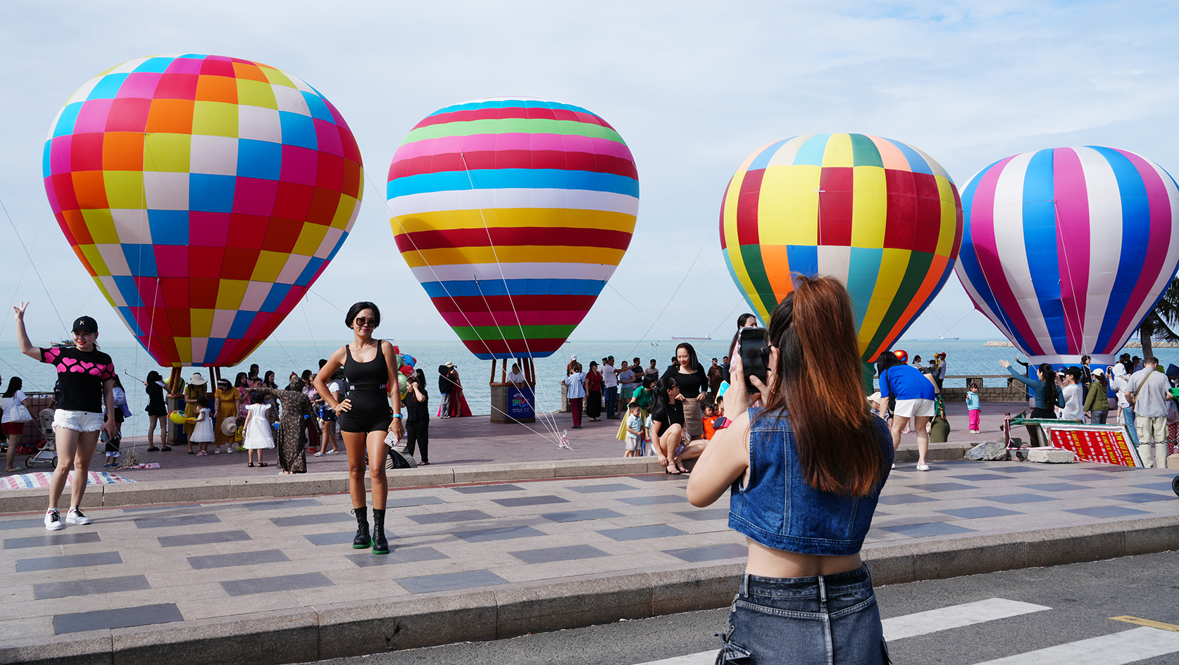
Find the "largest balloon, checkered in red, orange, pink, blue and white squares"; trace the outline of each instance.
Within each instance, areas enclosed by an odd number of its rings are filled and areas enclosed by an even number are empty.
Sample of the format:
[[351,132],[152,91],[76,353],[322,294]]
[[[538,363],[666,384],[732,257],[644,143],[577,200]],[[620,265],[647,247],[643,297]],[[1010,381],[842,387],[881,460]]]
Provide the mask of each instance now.
[[291,74],[157,55],[84,85],[45,142],[61,231],[165,366],[239,364],[335,257],[361,200],[343,117]]

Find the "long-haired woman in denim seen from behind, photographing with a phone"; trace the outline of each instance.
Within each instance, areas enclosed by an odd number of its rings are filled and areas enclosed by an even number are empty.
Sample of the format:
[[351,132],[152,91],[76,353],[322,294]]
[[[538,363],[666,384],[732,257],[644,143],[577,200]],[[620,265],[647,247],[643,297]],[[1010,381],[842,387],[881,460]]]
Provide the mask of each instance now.
[[[731,491],[729,526],[749,560],[718,663],[887,663],[880,611],[859,558],[893,440],[861,387],[847,288],[795,278],[770,319],[766,381],[745,387],[735,355],[725,410],[687,485],[693,506]],[[750,405],[759,398],[765,406]]]

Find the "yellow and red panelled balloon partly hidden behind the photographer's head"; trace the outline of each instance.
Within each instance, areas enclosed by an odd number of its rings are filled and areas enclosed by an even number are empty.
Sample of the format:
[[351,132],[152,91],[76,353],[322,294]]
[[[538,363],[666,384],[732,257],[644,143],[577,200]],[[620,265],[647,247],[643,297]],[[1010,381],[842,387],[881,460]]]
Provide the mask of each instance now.
[[751,154],[720,204],[720,248],[763,321],[791,274],[831,275],[855,302],[872,361],[946,284],[962,206],[946,169],[920,149],[864,134],[782,139]]

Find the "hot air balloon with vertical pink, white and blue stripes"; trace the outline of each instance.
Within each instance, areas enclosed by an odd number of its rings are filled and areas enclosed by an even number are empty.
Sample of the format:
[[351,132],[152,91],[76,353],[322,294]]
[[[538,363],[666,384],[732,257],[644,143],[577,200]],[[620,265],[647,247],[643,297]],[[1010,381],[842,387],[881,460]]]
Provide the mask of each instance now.
[[962,192],[959,279],[1032,363],[1113,363],[1179,264],[1179,188],[1129,151],[1027,152]]

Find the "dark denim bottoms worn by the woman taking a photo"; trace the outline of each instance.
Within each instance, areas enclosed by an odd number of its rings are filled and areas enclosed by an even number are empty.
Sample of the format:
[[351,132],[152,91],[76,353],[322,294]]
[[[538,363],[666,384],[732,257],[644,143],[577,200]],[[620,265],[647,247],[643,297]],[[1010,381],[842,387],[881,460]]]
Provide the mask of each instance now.
[[887,665],[868,566],[819,577],[745,574],[719,634],[717,665]]

